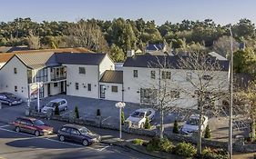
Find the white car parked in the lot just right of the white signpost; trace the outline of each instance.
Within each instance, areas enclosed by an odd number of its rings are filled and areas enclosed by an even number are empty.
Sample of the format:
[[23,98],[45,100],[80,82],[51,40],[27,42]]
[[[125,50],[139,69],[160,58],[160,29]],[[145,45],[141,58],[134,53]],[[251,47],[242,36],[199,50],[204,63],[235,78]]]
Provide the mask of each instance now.
[[129,115],[126,121],[130,121],[132,126],[144,128],[146,117],[151,122],[155,117],[156,112],[151,108],[138,109]]

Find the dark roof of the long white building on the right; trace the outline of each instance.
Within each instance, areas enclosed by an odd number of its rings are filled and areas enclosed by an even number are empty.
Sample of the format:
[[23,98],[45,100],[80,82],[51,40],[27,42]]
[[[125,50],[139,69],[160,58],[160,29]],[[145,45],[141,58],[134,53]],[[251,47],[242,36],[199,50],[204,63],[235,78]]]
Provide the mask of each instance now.
[[[150,68],[160,68],[164,65],[168,68],[181,69],[180,60],[186,61],[189,56],[179,56],[179,55],[134,55],[128,57],[124,63],[124,67],[150,67]],[[208,58],[208,62],[213,64],[216,62],[216,58]],[[228,71],[230,67],[230,62],[228,60],[217,60],[219,65],[222,67],[223,71]],[[188,69],[192,67],[188,66]]]

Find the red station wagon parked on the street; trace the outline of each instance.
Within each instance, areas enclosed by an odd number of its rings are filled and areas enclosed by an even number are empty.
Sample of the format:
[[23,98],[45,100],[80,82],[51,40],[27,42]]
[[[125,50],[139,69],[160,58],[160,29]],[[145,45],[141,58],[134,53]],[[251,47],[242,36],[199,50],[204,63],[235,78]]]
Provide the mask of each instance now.
[[39,119],[31,117],[17,117],[13,123],[16,132],[26,132],[39,135],[53,134],[54,128]]

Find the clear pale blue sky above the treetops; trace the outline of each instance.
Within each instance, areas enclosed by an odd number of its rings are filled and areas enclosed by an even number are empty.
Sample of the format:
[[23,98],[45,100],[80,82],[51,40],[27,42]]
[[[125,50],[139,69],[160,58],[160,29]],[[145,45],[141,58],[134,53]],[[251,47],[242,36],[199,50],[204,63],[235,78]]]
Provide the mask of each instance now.
[[220,25],[236,24],[241,18],[256,23],[256,0],[4,0],[0,21],[30,17],[33,21],[69,21],[80,18],[155,20],[178,23],[184,19],[212,19]]

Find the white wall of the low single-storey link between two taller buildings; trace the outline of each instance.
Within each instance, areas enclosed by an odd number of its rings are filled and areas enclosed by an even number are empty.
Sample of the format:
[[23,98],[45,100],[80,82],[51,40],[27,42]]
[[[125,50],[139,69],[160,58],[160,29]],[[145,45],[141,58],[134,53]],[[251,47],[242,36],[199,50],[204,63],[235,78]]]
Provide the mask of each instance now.
[[[123,84],[112,84],[112,83],[99,83],[105,84],[105,99],[110,101],[122,101],[122,87]],[[118,86],[118,92],[112,92],[112,86]]]

